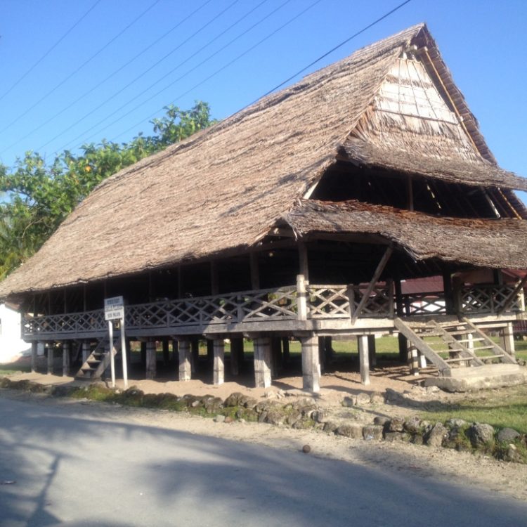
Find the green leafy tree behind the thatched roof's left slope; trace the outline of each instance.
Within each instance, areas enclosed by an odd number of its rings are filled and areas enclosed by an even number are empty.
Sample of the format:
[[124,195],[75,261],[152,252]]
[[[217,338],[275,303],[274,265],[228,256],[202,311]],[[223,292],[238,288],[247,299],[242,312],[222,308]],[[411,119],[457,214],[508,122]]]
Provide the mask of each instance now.
[[0,280],[32,256],[98,183],[214,123],[207,103],[165,110],[152,121],[152,136],[89,143],[77,154],[65,150],[52,164],[26,152],[13,169],[0,165]]

